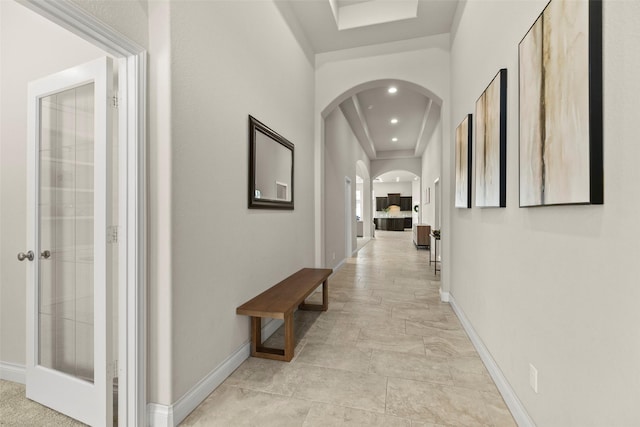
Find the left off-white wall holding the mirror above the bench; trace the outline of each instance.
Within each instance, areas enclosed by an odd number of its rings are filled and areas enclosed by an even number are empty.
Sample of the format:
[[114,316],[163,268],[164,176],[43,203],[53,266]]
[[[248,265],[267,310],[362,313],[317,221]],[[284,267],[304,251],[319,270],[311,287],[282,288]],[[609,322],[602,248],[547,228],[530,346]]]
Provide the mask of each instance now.
[[[313,266],[314,70],[272,2],[173,2],[170,35],[175,402],[249,340],[237,306]],[[295,144],[293,211],[247,208],[249,114]]]

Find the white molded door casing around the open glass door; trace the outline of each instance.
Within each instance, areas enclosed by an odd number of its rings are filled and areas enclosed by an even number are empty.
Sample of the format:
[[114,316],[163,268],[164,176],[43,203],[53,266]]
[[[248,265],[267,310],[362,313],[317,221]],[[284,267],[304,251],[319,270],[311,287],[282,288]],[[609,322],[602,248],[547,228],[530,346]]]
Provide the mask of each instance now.
[[145,426],[147,52],[71,2],[18,2],[119,62],[118,419]]

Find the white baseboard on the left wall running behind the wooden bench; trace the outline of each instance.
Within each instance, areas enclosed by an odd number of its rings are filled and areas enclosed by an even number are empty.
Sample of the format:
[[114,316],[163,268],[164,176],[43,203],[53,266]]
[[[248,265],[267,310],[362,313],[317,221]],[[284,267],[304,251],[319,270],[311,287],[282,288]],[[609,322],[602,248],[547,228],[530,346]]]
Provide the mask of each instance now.
[[[283,320],[273,319],[262,328],[262,337],[266,339],[284,324]],[[147,404],[147,420],[150,427],[175,427],[196,409],[220,384],[235,371],[251,354],[251,343],[238,348],[217,368],[194,385],[191,390],[173,405]]]

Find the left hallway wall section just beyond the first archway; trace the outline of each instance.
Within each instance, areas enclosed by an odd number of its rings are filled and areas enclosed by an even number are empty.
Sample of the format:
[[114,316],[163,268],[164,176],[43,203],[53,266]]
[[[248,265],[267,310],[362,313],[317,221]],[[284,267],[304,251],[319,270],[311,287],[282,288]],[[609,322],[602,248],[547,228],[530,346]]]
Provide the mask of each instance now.
[[351,254],[345,253],[345,177],[351,179],[354,189],[351,195],[351,211],[354,213],[351,219],[351,248],[355,250],[358,246],[355,216],[356,163],[361,161],[364,167],[368,168],[369,159],[353,134],[342,110],[336,108],[333,113],[329,114],[325,126],[326,169],[324,175],[325,203],[323,206],[326,220],[325,260],[327,267],[335,268],[345,258],[351,256]]

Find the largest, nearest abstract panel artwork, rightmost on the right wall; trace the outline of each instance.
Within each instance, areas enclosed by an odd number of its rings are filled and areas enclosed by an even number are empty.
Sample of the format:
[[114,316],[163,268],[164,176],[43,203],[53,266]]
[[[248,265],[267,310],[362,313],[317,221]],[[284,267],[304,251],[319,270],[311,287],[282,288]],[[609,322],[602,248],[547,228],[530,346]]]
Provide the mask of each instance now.
[[602,1],[552,0],[519,45],[520,207],[604,203]]

